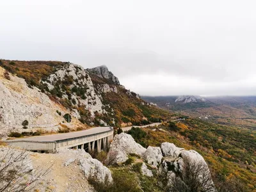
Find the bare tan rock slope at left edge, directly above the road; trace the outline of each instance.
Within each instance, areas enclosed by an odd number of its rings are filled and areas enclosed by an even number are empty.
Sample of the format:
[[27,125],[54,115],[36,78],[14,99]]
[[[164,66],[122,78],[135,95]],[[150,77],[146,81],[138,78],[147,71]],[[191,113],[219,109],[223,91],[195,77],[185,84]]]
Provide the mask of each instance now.
[[68,113],[65,108],[37,88],[29,88],[22,78],[10,74],[10,80],[5,79],[4,71],[0,67],[0,136],[22,129],[24,120],[28,120],[28,128],[54,127],[65,121],[56,113]]

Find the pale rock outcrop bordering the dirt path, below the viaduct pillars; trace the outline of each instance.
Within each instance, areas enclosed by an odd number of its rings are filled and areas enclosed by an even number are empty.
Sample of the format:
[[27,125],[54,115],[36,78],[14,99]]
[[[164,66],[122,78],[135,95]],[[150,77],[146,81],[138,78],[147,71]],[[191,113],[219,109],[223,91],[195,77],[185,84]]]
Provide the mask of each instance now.
[[81,170],[83,171],[86,179],[93,178],[102,183],[113,182],[110,170],[97,159],[93,159],[92,156],[90,156],[90,154],[84,150],[62,149],[58,150],[58,153],[71,157],[66,163],[64,163],[65,166],[68,166],[70,163],[73,163],[76,160],[79,161]]

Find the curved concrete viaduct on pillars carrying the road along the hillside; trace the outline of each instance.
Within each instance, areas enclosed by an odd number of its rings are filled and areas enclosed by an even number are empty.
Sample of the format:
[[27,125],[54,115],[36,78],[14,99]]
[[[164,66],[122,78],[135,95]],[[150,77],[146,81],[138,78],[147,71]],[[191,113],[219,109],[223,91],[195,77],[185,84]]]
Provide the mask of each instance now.
[[113,140],[113,135],[113,127],[95,127],[84,131],[8,140],[6,143],[35,152],[55,152],[58,148],[83,148],[87,152],[100,152]]

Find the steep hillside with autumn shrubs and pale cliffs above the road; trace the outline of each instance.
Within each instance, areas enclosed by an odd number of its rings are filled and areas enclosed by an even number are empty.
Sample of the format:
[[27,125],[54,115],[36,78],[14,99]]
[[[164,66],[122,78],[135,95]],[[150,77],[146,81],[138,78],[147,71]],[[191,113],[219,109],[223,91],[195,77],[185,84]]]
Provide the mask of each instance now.
[[[170,117],[120,85],[106,66],[0,61],[1,134],[145,125]],[[27,129],[27,130],[25,130]]]

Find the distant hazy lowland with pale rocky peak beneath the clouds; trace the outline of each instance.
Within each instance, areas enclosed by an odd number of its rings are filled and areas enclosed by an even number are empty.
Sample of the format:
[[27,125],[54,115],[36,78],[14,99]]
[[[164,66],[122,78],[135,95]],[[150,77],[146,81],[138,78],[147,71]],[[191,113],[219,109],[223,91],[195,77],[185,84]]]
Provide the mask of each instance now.
[[256,96],[141,97],[163,109],[224,125],[256,129]]

